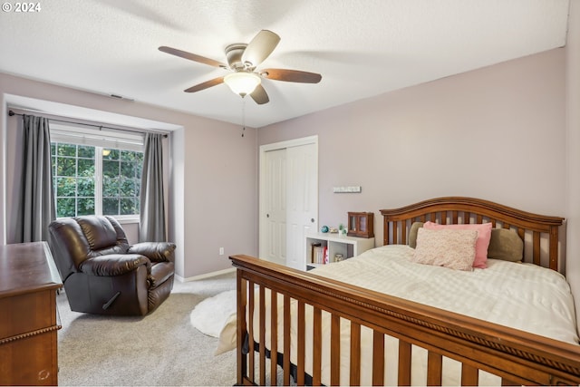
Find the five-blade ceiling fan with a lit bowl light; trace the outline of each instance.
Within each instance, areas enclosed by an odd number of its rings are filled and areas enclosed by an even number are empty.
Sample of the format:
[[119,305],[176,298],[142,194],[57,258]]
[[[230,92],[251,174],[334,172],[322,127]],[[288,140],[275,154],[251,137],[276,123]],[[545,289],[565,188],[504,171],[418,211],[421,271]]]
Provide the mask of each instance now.
[[256,71],[256,67],[266,60],[279,42],[280,36],[272,31],[262,30],[254,36],[249,44],[229,44],[226,47],[227,64],[165,45],[160,46],[159,49],[163,53],[170,53],[190,61],[232,71],[225,76],[191,86],[184,92],[199,92],[220,83],[226,83],[232,92],[241,95],[242,98],[249,94],[256,103],[261,105],[270,101],[264,86],[262,86],[262,78],[301,83],[318,83],[322,79],[320,74],[298,70],[263,69]]

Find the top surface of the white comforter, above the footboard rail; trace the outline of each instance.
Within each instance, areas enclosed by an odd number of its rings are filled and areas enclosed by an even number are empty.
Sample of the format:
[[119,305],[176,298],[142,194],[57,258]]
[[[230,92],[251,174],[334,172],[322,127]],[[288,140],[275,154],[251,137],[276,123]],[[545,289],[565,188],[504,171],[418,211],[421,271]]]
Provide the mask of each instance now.
[[488,259],[488,268],[464,272],[412,263],[409,256],[413,251],[403,245],[376,247],[340,265],[321,266],[311,273],[578,343],[570,286],[556,271]]

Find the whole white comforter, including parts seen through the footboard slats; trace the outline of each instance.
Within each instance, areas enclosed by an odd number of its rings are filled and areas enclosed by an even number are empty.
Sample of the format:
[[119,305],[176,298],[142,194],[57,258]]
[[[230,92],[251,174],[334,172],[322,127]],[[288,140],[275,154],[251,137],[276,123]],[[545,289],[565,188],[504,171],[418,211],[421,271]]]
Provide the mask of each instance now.
[[[556,340],[578,343],[572,295],[564,276],[539,266],[488,260],[488,268],[472,272],[451,270],[440,266],[412,263],[411,247],[394,245],[377,247],[361,256],[338,264],[321,266],[311,273],[328,276],[339,281],[359,285],[389,295],[396,295],[420,304],[431,305],[459,314],[467,314],[482,320],[508,325]],[[266,293],[267,295],[267,293]],[[282,300],[279,315],[282,316]],[[266,302],[267,305],[267,302]],[[295,303],[292,315],[295,317]],[[306,321],[312,319],[312,308],[306,307]],[[259,337],[255,319],[255,338]],[[280,318],[279,321],[282,319]],[[266,326],[269,326],[266,313]],[[308,326],[308,325],[307,325]],[[296,324],[292,324],[291,361],[296,363]],[[312,374],[312,333],[306,329],[306,372]],[[347,384],[349,359],[350,323],[342,321],[341,331],[341,383]],[[282,348],[282,328],[278,329],[278,348]],[[323,383],[330,384],[330,317],[323,314]],[[270,335],[266,332],[266,347]],[[362,328],[362,349],[372,348],[372,331]],[[389,337],[385,345],[385,384],[396,385],[397,342]],[[372,384],[372,354],[362,351],[362,385]],[[425,384],[426,352],[413,347],[413,384]],[[444,359],[443,384],[458,385],[459,363]],[[480,372],[480,384],[498,384],[499,380],[487,372]]]

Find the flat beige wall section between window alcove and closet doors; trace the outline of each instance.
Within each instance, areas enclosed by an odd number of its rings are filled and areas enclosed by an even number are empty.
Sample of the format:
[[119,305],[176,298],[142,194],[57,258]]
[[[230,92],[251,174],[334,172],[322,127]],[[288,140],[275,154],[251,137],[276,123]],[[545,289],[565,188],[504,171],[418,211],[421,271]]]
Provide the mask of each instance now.
[[257,148],[256,131],[241,137],[238,126],[218,121],[184,135],[183,254],[195,262],[186,266],[189,277],[231,267],[228,256],[257,254]]

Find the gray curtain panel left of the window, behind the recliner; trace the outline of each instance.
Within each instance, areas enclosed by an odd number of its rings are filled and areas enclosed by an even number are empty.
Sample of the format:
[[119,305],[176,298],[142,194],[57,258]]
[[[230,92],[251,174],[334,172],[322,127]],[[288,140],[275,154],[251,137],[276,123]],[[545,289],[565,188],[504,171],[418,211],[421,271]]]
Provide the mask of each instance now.
[[23,115],[22,179],[16,220],[16,242],[47,240],[55,219],[53,169],[48,120]]

